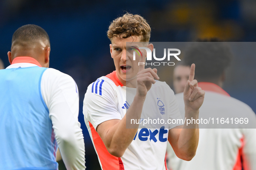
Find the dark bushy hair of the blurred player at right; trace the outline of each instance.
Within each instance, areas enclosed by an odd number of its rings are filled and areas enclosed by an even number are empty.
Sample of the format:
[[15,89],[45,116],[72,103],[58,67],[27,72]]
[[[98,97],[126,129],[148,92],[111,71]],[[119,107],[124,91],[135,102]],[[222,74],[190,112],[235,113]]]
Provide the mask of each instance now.
[[187,66],[195,64],[195,78],[198,81],[219,78],[230,65],[233,56],[230,47],[216,38],[198,41],[192,42],[185,51],[184,63]]

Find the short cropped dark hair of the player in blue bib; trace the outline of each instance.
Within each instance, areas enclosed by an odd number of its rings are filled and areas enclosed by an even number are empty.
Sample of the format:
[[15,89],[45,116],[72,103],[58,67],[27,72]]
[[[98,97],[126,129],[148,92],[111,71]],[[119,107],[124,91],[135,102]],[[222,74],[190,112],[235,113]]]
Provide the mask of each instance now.
[[13,41],[32,41],[36,39],[45,39],[49,42],[50,46],[50,39],[47,32],[39,27],[38,25],[23,25],[19,27],[13,34],[12,44]]

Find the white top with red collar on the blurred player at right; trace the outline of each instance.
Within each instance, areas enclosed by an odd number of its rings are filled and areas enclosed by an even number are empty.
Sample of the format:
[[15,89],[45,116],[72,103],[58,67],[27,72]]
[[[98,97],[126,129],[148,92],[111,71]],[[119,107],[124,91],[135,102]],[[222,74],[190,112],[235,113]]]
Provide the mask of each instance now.
[[[256,115],[248,105],[230,97],[213,83],[200,82],[198,86],[206,91],[204,103],[199,110],[199,119],[207,114],[211,115],[211,121],[214,118],[214,124],[217,124],[216,119],[219,118],[220,124],[222,117],[229,117],[228,125],[231,126],[232,117],[233,124],[236,117],[247,117],[251,123],[256,124]],[[184,107],[183,93],[175,96],[179,107]],[[183,111],[181,115],[184,115]],[[226,120],[225,118],[224,121]],[[227,125],[227,122],[222,121],[222,123]],[[194,158],[191,161],[183,161],[169,146],[168,168],[170,170],[241,170],[243,164],[244,170],[256,170],[256,129],[245,129],[244,125],[237,124],[237,129],[199,129],[198,149]],[[202,127],[199,124],[200,126]]]

